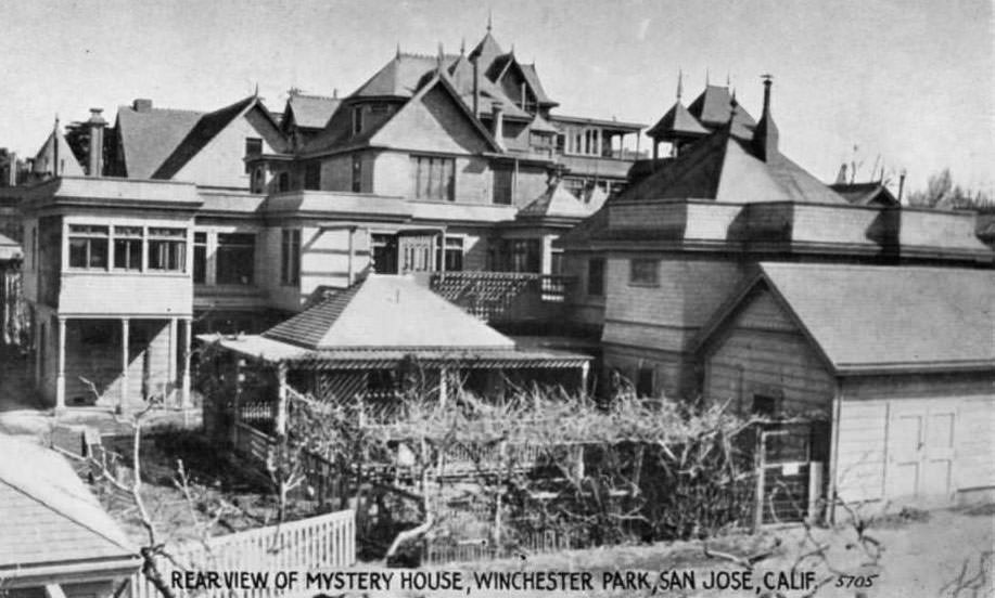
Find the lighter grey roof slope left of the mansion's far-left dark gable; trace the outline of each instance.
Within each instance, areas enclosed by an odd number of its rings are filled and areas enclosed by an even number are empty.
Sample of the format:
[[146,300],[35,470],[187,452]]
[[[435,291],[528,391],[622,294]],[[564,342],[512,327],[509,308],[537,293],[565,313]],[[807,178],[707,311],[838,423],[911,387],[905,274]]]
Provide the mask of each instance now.
[[131,106],[117,108],[117,131],[129,179],[151,179],[204,113]]

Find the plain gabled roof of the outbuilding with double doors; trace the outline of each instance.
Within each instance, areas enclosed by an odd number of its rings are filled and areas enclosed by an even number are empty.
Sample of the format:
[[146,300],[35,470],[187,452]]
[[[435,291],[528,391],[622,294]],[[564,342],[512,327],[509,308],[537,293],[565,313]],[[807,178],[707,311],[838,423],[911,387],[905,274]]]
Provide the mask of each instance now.
[[995,372],[991,270],[763,262],[702,333],[700,346],[758,287],[779,304],[837,374]]

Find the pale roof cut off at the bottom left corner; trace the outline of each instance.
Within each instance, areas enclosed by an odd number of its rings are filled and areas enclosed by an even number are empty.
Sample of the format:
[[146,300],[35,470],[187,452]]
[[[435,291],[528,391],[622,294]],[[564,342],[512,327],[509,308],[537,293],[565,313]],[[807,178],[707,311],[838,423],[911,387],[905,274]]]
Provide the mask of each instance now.
[[137,549],[62,455],[8,434],[0,455],[0,578],[43,566],[138,566]]

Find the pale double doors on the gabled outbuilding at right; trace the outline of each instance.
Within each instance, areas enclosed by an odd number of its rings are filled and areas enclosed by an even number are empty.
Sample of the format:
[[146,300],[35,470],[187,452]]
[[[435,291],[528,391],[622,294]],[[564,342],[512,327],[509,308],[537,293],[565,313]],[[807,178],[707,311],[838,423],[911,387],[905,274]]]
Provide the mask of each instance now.
[[888,434],[888,497],[930,507],[954,493],[956,406],[892,402]]

